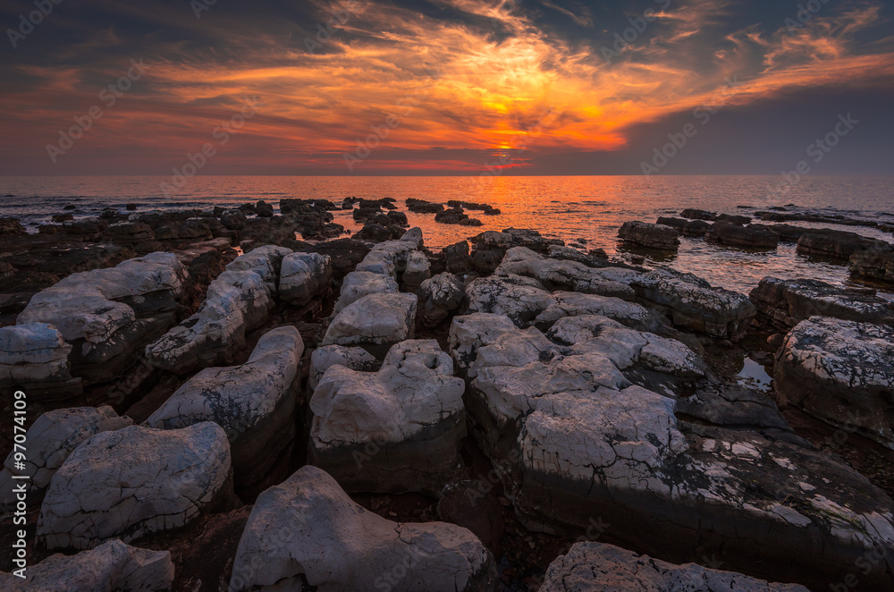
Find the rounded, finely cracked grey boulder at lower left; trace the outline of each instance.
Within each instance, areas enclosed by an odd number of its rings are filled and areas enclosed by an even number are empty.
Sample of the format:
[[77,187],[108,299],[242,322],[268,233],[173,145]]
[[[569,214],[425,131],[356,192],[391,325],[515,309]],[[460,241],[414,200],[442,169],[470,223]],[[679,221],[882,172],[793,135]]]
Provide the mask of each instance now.
[[38,520],[48,549],[89,549],[176,529],[232,496],[230,444],[211,422],[124,427],[80,444],[56,471]]

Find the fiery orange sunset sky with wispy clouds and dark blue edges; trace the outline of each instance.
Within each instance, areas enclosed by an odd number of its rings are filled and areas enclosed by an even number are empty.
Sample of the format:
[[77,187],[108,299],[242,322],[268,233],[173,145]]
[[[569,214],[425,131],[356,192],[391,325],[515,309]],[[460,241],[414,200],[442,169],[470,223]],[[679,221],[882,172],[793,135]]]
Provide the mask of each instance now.
[[0,174],[894,172],[877,0],[0,0]]

